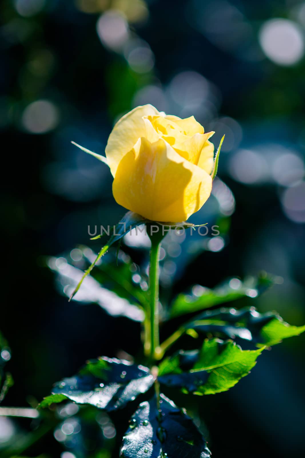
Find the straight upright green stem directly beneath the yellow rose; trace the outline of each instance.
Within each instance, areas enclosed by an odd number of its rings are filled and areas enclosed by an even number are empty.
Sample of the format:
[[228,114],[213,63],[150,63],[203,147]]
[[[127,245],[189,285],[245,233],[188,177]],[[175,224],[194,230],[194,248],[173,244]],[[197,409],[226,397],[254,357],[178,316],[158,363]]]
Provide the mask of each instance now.
[[150,250],[150,357],[159,349],[159,254],[161,240],[151,237]]

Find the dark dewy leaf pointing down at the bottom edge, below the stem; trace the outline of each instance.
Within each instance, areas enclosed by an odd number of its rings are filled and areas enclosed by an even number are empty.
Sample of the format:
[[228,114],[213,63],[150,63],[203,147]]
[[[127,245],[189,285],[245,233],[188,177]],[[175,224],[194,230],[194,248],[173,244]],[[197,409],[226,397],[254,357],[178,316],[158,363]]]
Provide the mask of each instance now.
[[164,394],[139,405],[123,437],[123,458],[209,458],[203,435],[184,410]]

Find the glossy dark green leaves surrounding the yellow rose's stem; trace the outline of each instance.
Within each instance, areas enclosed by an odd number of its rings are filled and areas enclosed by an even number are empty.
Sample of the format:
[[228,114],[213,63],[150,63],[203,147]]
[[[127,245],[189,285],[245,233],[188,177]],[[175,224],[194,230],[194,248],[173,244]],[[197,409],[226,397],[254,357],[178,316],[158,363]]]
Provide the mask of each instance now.
[[[138,222],[132,222],[132,218],[130,221],[131,225],[143,223],[141,218],[138,218]],[[120,231],[116,236],[119,239],[123,236],[123,225],[117,229]],[[118,252],[117,259],[111,252],[102,258],[113,240],[111,238],[110,243],[100,252],[100,262],[96,264],[94,271],[95,278],[86,279],[82,285],[81,297],[85,301],[97,302],[111,315],[123,315],[142,321],[145,312],[149,310],[149,292],[142,287],[147,287],[147,275],[140,272],[139,267],[122,251]],[[85,278],[95,265],[96,256],[86,247],[80,249],[88,264],[93,261],[86,270]],[[70,262],[69,259],[68,261]],[[77,263],[72,262],[72,266],[68,267],[77,270],[79,275]],[[57,272],[62,287],[65,284],[63,279],[69,277],[69,272],[65,269],[57,269]],[[137,282],[134,282],[134,273],[139,275],[140,280],[138,278]],[[75,280],[75,272],[71,271],[70,274],[67,278],[68,284]],[[70,400],[111,412],[126,407],[141,394],[142,399],[146,400],[139,405],[129,421],[128,431],[123,437],[122,457],[210,457],[206,441],[193,421],[163,394],[159,397],[160,389],[177,388],[182,393],[195,395],[227,391],[249,374],[264,348],[305,331],[305,326],[290,326],[277,313],[260,314],[254,307],[241,310],[224,307],[205,310],[240,298],[256,297],[271,285],[273,278],[262,274],[257,279],[244,282],[231,278],[215,289],[193,288],[191,295],[179,294],[167,316],[164,309],[165,319],[202,312],[161,343],[159,355],[161,357],[166,354],[166,358],[161,360],[158,370],[153,367],[150,371],[148,367],[107,357],[88,361],[77,375],[56,383],[52,394],[43,399],[40,407]],[[92,295],[93,291],[95,295]],[[114,302],[105,301],[108,293],[116,298]],[[80,296],[76,299],[81,300]],[[144,325],[147,326],[146,322]],[[180,350],[171,355],[172,344],[177,345],[184,334],[194,337],[193,342],[196,342],[197,349]],[[251,349],[246,349],[247,347]],[[149,360],[149,364],[151,367],[156,362]],[[150,388],[154,383],[155,396],[151,398]]]

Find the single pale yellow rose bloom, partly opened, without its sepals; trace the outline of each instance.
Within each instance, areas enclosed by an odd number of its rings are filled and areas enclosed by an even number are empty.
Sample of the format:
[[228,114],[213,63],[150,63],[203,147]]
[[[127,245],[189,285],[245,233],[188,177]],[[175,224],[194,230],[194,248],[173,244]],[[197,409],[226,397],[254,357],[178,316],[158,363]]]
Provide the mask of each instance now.
[[165,115],[152,105],[125,114],[106,146],[115,200],[152,221],[189,218],[212,189],[213,134],[193,116]]

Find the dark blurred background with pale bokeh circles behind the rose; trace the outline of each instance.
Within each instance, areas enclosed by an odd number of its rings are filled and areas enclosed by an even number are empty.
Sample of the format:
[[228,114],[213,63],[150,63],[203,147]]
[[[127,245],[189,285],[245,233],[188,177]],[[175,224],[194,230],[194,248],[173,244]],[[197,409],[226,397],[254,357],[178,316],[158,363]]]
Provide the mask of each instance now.
[[[139,351],[137,319],[68,303],[52,272],[67,256],[80,261],[77,244],[98,250],[88,225],[124,214],[107,167],[70,141],[103,154],[113,123],[137,105],[194,115],[216,147],[225,134],[213,194],[191,218],[220,234],[165,240],[171,297],[265,270],[277,284],[236,306],[305,323],[304,1],[12,0],[0,21],[0,329],[15,380],[2,405],[35,405],[88,358]],[[125,239],[145,266],[147,240]],[[192,401],[214,458],[304,456],[304,344],[303,335],[275,346],[229,392]],[[0,416],[0,447],[33,421]],[[53,431],[24,454],[110,457],[107,431],[98,455]]]

